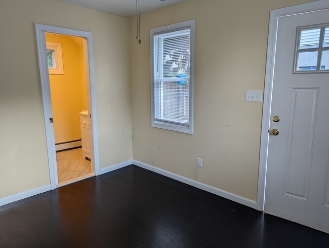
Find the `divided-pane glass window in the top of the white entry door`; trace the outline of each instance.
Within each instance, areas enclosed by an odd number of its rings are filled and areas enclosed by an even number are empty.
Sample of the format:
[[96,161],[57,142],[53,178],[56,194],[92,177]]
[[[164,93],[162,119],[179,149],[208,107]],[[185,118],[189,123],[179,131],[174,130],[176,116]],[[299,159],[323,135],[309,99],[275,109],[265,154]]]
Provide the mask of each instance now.
[[329,24],[297,29],[294,73],[329,72]]

